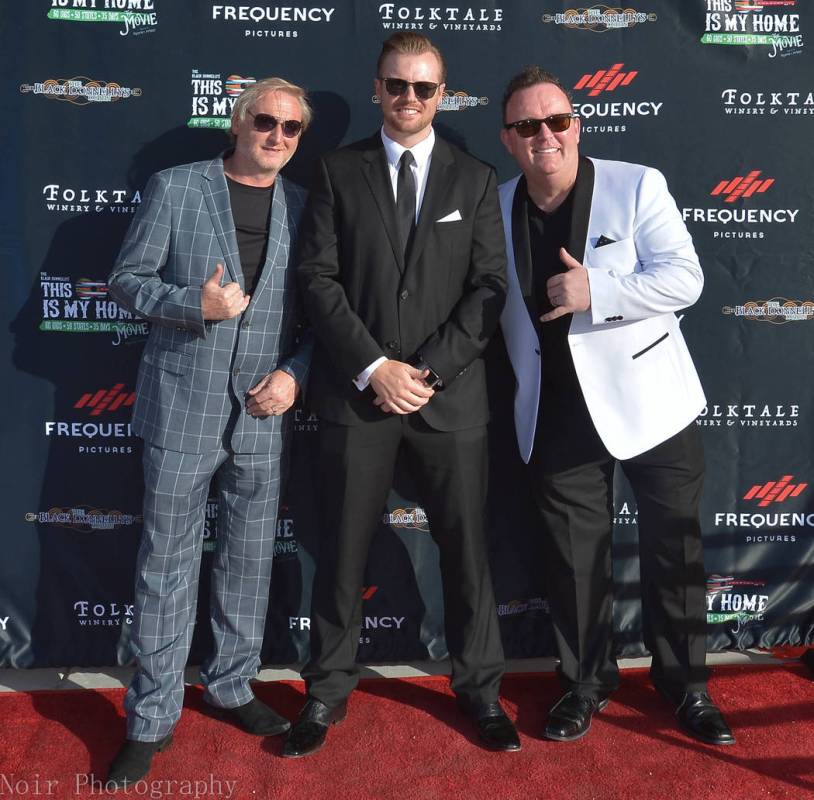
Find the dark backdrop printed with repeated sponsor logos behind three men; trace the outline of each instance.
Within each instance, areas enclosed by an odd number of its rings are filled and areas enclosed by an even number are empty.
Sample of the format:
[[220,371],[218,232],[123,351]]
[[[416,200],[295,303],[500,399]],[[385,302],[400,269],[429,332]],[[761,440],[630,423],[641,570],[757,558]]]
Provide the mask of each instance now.
[[[710,649],[814,639],[814,8],[805,0],[5,0],[0,183],[0,663],[129,659],[141,443],[129,426],[148,326],[105,283],[151,173],[227,144],[253,80],[308,87],[316,108],[287,175],[376,130],[373,78],[392,31],[449,65],[437,130],[516,170],[498,139],[507,80],[537,63],[573,88],[587,155],[659,168],[706,274],[683,315],[709,405],[702,524]],[[511,427],[512,376],[490,352],[490,545],[507,654],[553,652],[540,539]],[[658,413],[654,409],[654,413]],[[313,447],[296,412],[264,660],[308,646],[320,528]],[[615,499],[619,650],[642,652],[636,504]],[[206,509],[199,624],[218,507]],[[400,471],[364,588],[363,660],[446,653],[437,551]]]

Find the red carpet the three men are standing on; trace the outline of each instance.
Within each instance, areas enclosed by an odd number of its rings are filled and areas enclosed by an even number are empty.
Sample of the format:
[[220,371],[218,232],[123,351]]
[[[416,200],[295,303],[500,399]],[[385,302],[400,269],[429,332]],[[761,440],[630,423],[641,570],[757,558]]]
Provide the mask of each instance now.
[[[622,688],[571,744],[538,738],[556,699],[552,675],[508,676],[504,704],[520,753],[477,746],[445,678],[364,681],[348,719],[322,752],[279,756],[259,739],[205,715],[187,690],[172,747],[128,797],[237,800],[757,800],[814,797],[814,680],[799,664],[722,667],[711,690],[738,738],[710,747],[678,732],[647,674],[623,672]],[[301,683],[260,684],[258,696],[289,717]],[[0,695],[0,798],[106,797],[103,780],[124,735],[122,690]],[[49,781],[51,782],[49,784]],[[170,783],[174,781],[174,783]],[[196,785],[194,782],[198,781]],[[78,789],[78,791],[77,791]],[[117,796],[124,797],[124,794]]]

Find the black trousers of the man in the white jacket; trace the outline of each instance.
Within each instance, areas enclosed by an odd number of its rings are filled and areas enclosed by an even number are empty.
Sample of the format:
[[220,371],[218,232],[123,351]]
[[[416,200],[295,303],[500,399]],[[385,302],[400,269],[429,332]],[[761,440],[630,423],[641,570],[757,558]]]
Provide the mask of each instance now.
[[[581,398],[577,398],[581,400]],[[613,470],[582,402],[541,409],[531,460],[545,528],[545,576],[566,688],[606,695],[619,683],[613,644]],[[639,510],[642,622],[651,680],[676,703],[704,691],[706,574],[698,507],[704,453],[695,423],[619,462]]]

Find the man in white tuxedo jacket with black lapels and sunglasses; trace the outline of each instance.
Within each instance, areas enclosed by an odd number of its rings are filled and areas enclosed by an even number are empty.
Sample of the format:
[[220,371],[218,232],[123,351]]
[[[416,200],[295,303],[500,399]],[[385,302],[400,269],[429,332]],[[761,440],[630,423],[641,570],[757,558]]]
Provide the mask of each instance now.
[[618,462],[639,509],[651,679],[681,727],[735,740],[707,693],[698,521],[704,393],[675,312],[703,274],[658,171],[579,155],[580,122],[550,73],[503,99],[501,140],[522,175],[500,201],[509,288],[501,319],[515,424],[545,529],[545,574],[565,694],[545,736],[571,741],[619,683],[611,538]]

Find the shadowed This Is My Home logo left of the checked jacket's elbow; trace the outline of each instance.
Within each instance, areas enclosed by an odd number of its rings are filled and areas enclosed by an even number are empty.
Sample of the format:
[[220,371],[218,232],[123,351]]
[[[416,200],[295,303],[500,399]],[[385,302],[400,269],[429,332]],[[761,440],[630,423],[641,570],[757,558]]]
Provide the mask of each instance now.
[[41,272],[40,292],[41,331],[112,333],[111,344],[114,346],[142,341],[149,333],[146,322],[110,299],[104,281],[79,278],[74,283],[68,277]]

